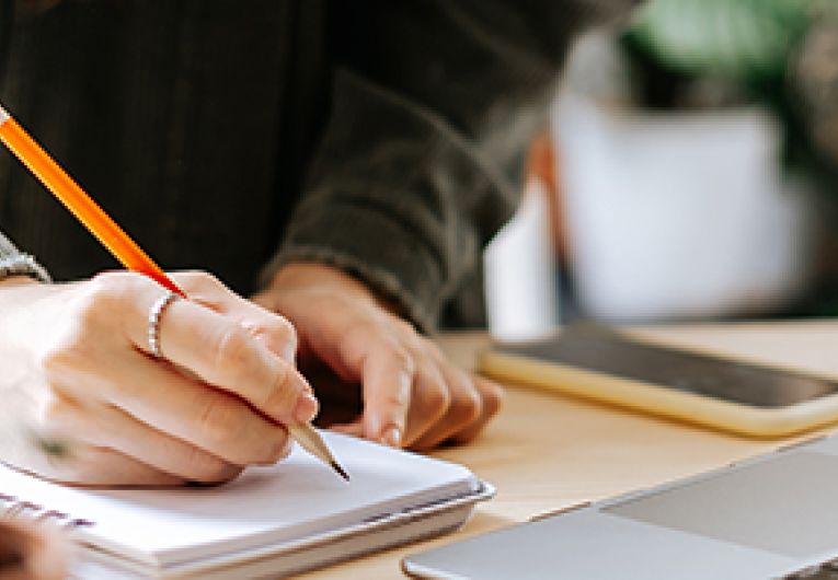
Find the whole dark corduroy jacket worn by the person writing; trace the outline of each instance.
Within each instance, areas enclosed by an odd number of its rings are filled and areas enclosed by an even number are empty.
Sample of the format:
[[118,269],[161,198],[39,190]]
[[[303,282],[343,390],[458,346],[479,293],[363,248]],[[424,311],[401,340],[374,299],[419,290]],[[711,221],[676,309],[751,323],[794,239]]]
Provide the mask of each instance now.
[[[426,329],[482,322],[571,34],[623,3],[0,1],[2,103],[164,268],[323,260]],[[4,153],[0,231],[59,280],[117,267]]]

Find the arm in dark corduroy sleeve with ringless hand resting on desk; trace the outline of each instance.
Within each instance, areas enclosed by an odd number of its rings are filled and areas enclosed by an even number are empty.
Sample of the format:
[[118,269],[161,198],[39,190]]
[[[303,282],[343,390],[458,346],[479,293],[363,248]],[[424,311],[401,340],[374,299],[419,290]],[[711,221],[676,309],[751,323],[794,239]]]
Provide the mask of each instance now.
[[500,391],[416,327],[435,328],[512,214],[571,33],[602,14],[593,2],[336,4],[332,115],[260,300],[295,324],[303,358],[361,384],[358,432],[395,430],[415,448],[470,439]]

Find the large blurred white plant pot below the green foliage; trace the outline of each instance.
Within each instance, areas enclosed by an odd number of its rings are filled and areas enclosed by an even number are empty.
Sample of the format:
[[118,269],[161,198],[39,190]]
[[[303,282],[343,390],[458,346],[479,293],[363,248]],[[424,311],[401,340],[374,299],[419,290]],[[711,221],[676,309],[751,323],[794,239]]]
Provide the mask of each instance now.
[[553,117],[587,314],[756,314],[805,283],[814,206],[782,176],[781,131],[766,111],[618,113],[565,93]]

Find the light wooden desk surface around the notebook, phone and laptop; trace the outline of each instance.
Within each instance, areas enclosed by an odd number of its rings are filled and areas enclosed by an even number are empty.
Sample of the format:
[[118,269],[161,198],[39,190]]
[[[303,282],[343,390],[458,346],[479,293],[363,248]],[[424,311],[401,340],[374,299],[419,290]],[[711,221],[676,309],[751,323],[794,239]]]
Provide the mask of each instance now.
[[[680,326],[646,338],[838,378],[838,322]],[[471,368],[482,335],[447,336],[448,355]],[[470,445],[434,455],[469,466],[497,487],[459,532],[310,572],[307,579],[398,578],[401,558],[533,515],[723,466],[790,440],[758,441],[507,385],[506,405]],[[816,433],[814,433],[816,434]],[[812,437],[810,433],[807,437]]]

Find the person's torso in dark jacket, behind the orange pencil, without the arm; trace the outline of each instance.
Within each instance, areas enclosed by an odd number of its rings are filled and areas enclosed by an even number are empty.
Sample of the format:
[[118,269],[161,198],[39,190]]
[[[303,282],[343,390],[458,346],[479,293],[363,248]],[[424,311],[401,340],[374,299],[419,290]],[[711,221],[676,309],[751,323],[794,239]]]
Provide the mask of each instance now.
[[[325,27],[318,0],[19,7],[0,101],[161,266],[249,292],[326,116]],[[57,279],[118,267],[10,155],[0,230]]]

